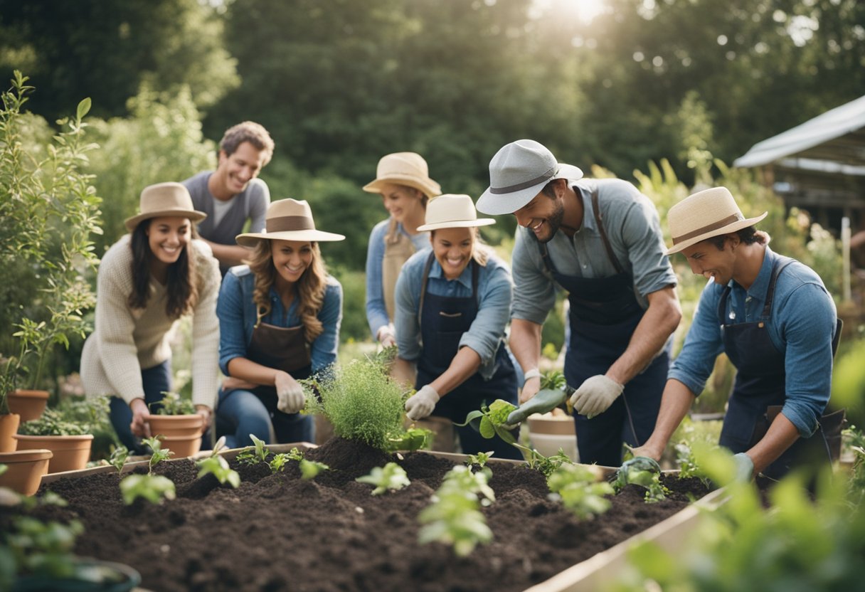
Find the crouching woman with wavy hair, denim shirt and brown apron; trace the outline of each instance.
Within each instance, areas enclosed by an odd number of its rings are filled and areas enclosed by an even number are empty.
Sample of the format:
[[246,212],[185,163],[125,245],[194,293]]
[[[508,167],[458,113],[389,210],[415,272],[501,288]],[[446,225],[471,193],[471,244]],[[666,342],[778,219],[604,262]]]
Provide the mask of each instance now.
[[251,445],[250,434],[271,441],[271,431],[280,443],[314,441],[298,380],[334,363],[343,317],[343,288],[318,243],[344,238],[317,230],[309,204],[294,199],[271,203],[265,232],[238,235],[253,255],[228,270],[216,307],[227,376],[217,432],[229,447]]

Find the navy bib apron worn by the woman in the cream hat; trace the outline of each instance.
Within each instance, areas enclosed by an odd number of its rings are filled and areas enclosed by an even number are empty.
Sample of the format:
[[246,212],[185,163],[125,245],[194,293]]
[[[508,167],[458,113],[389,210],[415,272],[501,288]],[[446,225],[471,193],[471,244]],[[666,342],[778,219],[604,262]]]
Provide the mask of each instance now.
[[[477,261],[472,259],[470,263],[471,296],[468,298],[437,296],[426,292],[432,261],[435,261],[435,254],[431,253],[426,260],[423,286],[420,289],[420,338],[423,347],[418,360],[415,389],[432,383],[451,366],[453,358],[459,351],[459,340],[463,337],[463,333],[471,328],[478,310]],[[481,376],[479,371],[475,372],[456,389],[442,396],[432,410],[432,415],[462,422],[471,411],[480,409],[482,405],[489,405],[496,399],[518,404],[516,372],[503,343],[498,345],[496,370],[490,380],[484,380],[484,376]],[[463,454],[477,454],[492,450],[496,453],[497,459],[522,460],[519,450],[498,436],[486,440],[471,426],[454,426],[454,428],[459,435]]]

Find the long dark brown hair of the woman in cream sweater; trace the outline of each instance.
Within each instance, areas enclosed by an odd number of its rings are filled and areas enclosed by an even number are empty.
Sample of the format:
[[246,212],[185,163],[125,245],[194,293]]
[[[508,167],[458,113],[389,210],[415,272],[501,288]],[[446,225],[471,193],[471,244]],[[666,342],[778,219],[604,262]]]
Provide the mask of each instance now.
[[[126,303],[131,308],[146,308],[151,295],[151,261],[156,256],[151,250],[147,229],[152,220],[144,220],[132,231],[132,292]],[[190,227],[191,237],[198,238],[195,224]],[[180,319],[195,307],[198,302],[198,267],[195,256],[190,256],[192,242],[183,248],[177,261],[168,266],[168,298],[165,301],[165,314],[169,319]]]

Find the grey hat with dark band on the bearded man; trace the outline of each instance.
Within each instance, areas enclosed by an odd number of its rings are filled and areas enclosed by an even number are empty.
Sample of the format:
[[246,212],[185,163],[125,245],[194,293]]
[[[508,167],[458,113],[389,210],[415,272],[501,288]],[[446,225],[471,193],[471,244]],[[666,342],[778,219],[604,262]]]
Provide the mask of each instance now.
[[581,179],[583,171],[556,161],[547,147],[521,139],[503,145],[490,160],[490,187],[477,200],[484,214],[513,214],[553,179]]

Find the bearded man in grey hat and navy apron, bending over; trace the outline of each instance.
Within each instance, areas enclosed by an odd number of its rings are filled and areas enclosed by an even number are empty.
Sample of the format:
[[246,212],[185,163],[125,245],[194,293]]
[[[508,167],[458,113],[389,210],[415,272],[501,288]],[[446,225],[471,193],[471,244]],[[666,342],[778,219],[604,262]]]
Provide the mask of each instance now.
[[655,425],[682,311],[655,206],[626,181],[582,177],[517,140],[490,161],[477,209],[519,223],[510,348],[525,370],[521,402],[540,389],[541,327],[558,286],[570,303],[565,376],[580,462],[617,467],[622,442],[644,444]]

